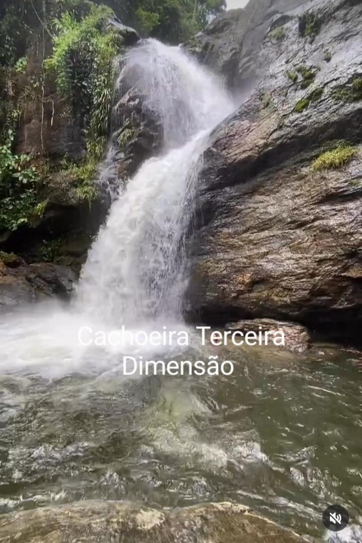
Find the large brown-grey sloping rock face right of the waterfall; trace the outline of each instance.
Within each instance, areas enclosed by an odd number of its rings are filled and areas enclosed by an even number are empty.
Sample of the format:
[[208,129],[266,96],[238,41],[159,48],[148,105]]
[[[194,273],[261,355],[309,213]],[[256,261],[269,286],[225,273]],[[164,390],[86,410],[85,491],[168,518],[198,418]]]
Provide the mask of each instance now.
[[[193,318],[293,320],[333,338],[358,338],[361,21],[361,3],[345,0],[271,16],[258,57],[265,76],[205,154]],[[354,159],[314,171],[313,160],[339,140],[355,144]]]

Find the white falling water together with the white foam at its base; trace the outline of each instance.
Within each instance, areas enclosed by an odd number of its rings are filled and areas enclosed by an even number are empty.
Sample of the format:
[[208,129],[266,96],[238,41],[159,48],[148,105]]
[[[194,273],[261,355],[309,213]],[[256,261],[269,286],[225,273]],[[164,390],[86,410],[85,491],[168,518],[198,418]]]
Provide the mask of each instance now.
[[[119,352],[81,346],[81,327],[106,332],[122,325],[134,331],[184,326],[186,241],[198,168],[209,133],[233,104],[220,81],[181,48],[155,40],[131,50],[118,85],[124,77],[162,124],[162,150],[113,201],[71,306],[22,308],[0,325],[7,371],[26,367],[56,376],[82,368],[99,374],[119,364]],[[111,148],[100,168],[101,184],[111,188],[116,160]]]

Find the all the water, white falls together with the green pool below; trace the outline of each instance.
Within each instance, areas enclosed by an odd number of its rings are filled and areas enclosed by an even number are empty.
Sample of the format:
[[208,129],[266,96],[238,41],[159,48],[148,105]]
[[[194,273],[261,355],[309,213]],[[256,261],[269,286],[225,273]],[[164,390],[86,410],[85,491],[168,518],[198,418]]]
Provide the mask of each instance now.
[[[153,507],[235,500],[317,540],[361,541],[358,353],[225,347],[218,355],[236,368],[229,377],[127,378],[122,352],[79,344],[85,325],[185,329],[200,157],[234,108],[180,48],[150,40],[131,52],[134,67],[164,126],[162,153],[113,203],[72,304],[23,307],[0,323],[0,512],[88,498]],[[209,354],[196,338],[187,349],[135,352]],[[332,503],[352,519],[341,539],[321,523]]]

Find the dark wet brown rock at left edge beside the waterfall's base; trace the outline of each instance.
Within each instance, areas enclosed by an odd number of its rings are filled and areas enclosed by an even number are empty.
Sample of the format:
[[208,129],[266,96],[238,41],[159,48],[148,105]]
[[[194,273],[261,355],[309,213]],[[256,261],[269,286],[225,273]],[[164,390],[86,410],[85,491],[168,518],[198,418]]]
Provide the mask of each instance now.
[[72,270],[58,264],[43,262],[11,268],[0,261],[0,312],[49,296],[67,298],[75,280]]

